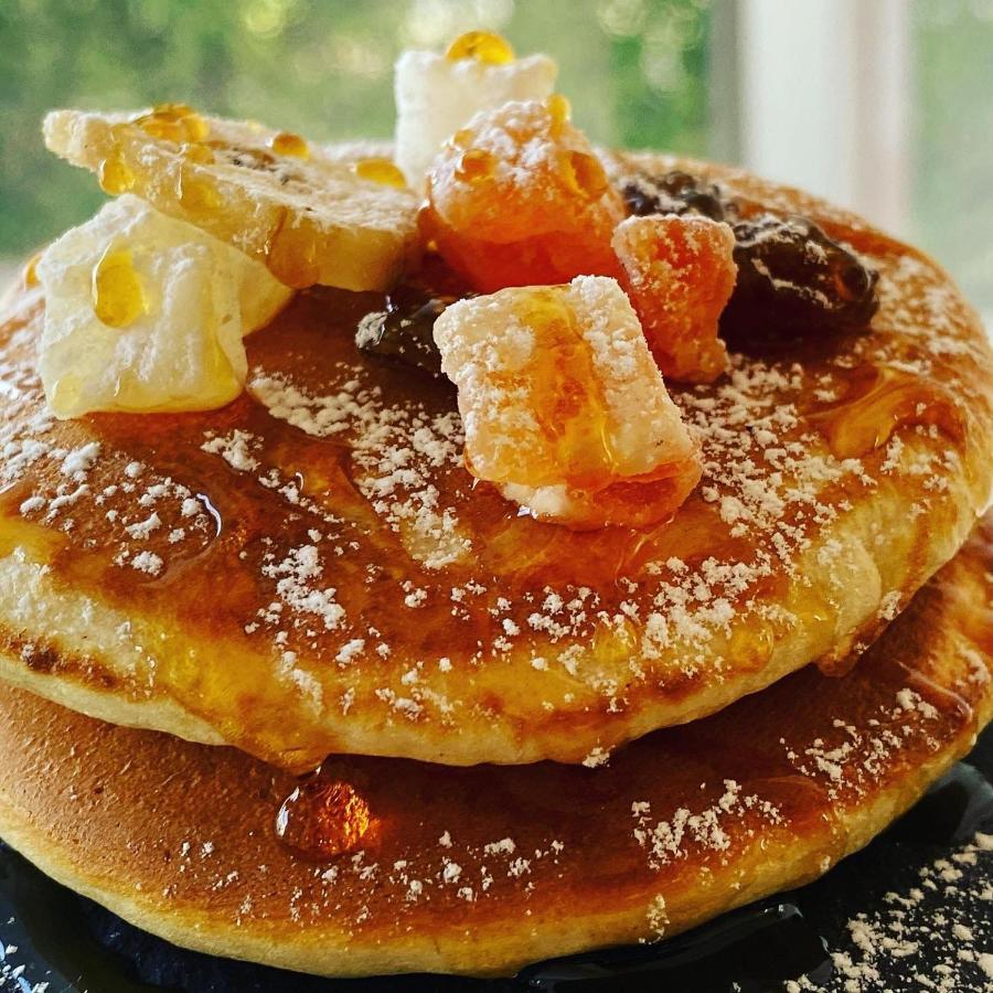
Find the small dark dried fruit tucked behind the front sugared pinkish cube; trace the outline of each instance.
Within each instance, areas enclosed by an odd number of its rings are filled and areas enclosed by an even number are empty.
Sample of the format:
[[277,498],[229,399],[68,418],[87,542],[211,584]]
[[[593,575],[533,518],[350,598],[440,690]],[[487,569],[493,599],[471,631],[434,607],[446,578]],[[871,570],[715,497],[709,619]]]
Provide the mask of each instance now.
[[386,309],[367,313],[355,333],[366,354],[401,362],[433,376],[441,375],[441,353],[435,344],[435,321],[460,299],[418,286],[401,286],[386,297]]

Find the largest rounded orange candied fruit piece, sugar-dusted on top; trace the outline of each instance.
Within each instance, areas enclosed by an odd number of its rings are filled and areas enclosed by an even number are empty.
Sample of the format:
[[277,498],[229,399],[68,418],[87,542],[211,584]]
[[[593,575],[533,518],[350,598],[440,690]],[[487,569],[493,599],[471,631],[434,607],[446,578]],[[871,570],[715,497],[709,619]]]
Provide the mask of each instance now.
[[479,290],[619,275],[623,201],[568,104],[509,103],[456,131],[428,172],[421,226]]

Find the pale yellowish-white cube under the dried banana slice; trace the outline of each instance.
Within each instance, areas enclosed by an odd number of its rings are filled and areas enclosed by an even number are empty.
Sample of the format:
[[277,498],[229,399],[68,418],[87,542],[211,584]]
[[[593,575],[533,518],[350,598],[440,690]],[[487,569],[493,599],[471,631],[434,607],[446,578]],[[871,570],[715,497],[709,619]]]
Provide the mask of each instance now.
[[38,263],[38,365],[63,418],[96,410],[209,410],[245,385],[243,337],[292,291],[192,224],[120,196]]

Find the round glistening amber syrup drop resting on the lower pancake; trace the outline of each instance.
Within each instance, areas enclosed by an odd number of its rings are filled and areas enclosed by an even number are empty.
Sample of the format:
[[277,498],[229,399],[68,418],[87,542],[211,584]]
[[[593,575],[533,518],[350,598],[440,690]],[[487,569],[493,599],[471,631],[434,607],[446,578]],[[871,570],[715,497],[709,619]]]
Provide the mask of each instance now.
[[318,770],[284,800],[276,836],[296,854],[323,862],[352,851],[371,821],[369,803],[354,787]]

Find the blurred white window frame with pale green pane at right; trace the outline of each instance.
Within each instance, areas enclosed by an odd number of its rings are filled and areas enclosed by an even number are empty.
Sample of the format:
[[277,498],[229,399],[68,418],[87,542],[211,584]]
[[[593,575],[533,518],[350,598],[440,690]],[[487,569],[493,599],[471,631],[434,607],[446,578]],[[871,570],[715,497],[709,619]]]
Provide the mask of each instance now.
[[920,245],[993,328],[993,0],[737,0],[735,23],[743,163]]

